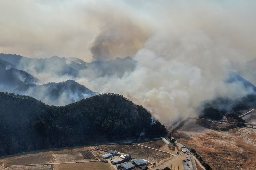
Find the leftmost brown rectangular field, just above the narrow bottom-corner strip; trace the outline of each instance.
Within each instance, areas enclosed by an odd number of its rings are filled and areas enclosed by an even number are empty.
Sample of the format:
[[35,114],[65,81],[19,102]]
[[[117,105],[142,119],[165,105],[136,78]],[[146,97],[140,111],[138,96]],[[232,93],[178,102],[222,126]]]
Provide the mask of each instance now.
[[11,159],[5,165],[29,165],[29,164],[48,164],[52,163],[52,155],[27,156],[23,158]]

